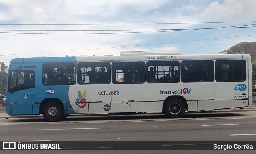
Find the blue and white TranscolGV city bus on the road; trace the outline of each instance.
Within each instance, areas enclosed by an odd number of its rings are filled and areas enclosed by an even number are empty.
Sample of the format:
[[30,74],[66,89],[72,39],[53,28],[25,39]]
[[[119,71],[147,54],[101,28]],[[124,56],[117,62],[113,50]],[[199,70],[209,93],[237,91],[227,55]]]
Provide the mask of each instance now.
[[70,114],[162,112],[252,104],[250,54],[121,52],[120,56],[34,57],[11,60],[8,115],[59,121]]

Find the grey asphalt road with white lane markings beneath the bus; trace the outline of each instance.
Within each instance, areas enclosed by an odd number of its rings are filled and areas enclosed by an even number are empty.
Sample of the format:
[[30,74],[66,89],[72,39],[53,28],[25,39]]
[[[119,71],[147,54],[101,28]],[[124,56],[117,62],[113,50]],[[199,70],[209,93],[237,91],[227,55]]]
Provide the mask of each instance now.
[[[256,141],[256,112],[185,114],[167,119],[162,114],[70,116],[62,122],[42,117],[0,118],[1,141]],[[130,144],[130,142],[127,142]],[[128,146],[128,145],[127,145]],[[202,145],[204,146],[204,145]],[[149,147],[150,148],[150,147]],[[256,149],[255,149],[256,150]],[[0,154],[33,153],[255,153],[224,150],[3,150]]]

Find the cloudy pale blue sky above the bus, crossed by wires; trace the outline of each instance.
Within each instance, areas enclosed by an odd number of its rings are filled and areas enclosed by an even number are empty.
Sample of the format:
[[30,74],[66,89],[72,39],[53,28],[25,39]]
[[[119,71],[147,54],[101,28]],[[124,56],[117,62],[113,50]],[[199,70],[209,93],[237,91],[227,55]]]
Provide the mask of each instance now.
[[0,62],[122,51],[217,54],[256,41],[255,6],[255,0],[0,0]]

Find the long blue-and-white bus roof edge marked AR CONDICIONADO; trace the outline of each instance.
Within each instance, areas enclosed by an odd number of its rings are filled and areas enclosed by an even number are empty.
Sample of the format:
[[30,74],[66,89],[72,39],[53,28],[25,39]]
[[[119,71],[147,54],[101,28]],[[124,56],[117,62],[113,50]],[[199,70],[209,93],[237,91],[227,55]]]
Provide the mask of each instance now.
[[250,54],[189,54],[189,55],[143,55],[143,56],[78,56],[78,57],[32,57],[16,58],[12,63],[45,62],[95,62],[95,61],[150,61],[150,60],[212,60],[250,58]]

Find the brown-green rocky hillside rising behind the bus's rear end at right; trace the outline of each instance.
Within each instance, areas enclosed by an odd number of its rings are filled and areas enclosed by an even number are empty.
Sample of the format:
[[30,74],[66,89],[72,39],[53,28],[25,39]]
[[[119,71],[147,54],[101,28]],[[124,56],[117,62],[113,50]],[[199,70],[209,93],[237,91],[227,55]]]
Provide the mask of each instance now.
[[227,52],[228,54],[234,54],[234,53],[251,54],[252,63],[256,64],[256,42],[240,42],[222,52]]

